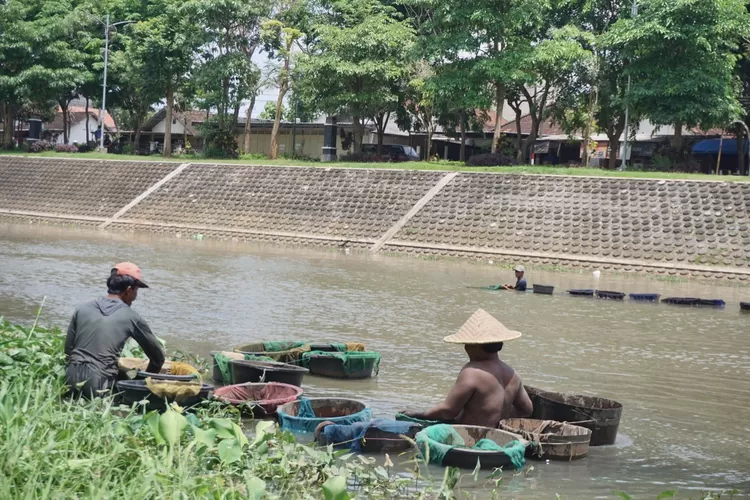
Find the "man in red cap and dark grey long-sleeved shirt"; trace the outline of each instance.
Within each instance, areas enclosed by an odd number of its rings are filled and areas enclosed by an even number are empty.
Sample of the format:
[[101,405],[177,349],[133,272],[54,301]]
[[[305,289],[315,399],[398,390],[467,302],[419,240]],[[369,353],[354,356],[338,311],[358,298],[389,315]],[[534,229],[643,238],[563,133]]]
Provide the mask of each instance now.
[[106,297],[78,306],[68,326],[66,383],[75,395],[106,394],[117,380],[117,361],[129,339],[135,339],[149,359],[148,371],[158,373],[164,353],[146,321],[130,306],[139,288],[148,288],[133,263],[117,264],[107,279]]

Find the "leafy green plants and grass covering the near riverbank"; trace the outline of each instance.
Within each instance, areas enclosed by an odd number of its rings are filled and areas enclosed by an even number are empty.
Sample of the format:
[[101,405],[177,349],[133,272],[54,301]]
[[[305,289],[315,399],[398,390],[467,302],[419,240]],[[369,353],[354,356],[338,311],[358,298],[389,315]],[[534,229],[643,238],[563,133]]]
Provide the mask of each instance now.
[[243,421],[217,403],[159,415],[110,397],[61,400],[63,344],[58,329],[0,319],[0,489],[8,498],[429,498],[454,486],[302,445],[273,422]]

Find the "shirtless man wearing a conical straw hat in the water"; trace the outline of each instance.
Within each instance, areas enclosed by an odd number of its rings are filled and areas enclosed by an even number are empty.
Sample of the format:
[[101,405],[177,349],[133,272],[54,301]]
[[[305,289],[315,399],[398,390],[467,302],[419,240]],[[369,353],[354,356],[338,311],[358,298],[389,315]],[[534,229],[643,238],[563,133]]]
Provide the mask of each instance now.
[[498,356],[505,342],[520,336],[486,311],[477,310],[458,333],[444,339],[464,344],[469,355],[445,401],[426,412],[402,413],[421,420],[493,428],[511,415],[531,415],[534,408],[521,377]]

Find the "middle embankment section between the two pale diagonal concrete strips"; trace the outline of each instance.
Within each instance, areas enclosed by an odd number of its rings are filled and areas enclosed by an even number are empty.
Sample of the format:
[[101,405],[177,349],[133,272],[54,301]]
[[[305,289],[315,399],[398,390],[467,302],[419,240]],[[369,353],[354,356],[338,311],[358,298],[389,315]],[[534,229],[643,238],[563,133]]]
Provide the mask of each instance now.
[[445,174],[195,164],[120,223],[375,240]]

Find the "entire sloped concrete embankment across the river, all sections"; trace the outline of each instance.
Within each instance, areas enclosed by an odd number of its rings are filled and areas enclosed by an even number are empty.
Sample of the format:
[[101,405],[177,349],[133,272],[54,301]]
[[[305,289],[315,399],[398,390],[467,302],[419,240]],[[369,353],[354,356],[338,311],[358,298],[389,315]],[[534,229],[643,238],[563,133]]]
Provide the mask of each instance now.
[[750,183],[5,156],[0,219],[750,281]]

